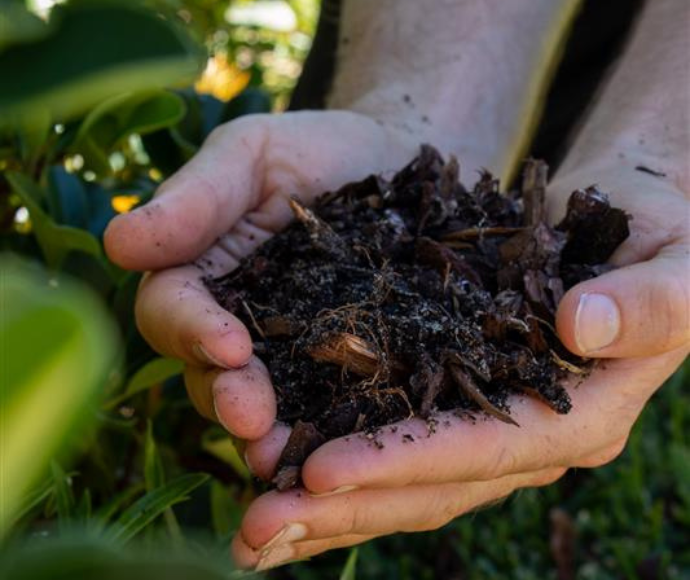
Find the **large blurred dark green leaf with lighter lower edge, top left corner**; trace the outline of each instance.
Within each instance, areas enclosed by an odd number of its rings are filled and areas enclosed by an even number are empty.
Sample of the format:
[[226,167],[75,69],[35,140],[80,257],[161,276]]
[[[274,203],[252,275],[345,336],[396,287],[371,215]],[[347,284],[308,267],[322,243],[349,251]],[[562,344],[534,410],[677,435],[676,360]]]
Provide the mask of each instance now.
[[0,124],[37,107],[69,119],[113,95],[193,80],[201,51],[153,11],[130,2],[72,2],[50,32],[0,53]]

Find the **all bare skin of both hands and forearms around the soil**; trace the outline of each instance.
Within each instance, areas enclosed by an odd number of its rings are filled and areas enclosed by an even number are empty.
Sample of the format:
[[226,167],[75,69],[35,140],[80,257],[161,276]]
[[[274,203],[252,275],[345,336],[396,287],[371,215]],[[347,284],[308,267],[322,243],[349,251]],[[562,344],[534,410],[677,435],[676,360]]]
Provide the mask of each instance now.
[[[248,464],[260,477],[272,475],[289,428],[274,423],[270,377],[252,355],[247,330],[215,303],[200,274],[231,270],[279,231],[290,219],[291,193],[308,202],[368,173],[394,170],[422,141],[457,154],[466,180],[481,166],[510,173],[515,135],[526,130],[534,97],[523,79],[543,64],[543,31],[569,6],[439,2],[443,7],[425,9],[422,19],[441,31],[439,41],[409,47],[404,38],[420,21],[417,4],[399,1],[393,10],[392,0],[381,0],[372,14],[364,0],[346,3],[349,41],[331,105],[347,110],[251,116],[219,128],[146,208],[116,218],[106,232],[113,261],[155,271],[137,300],[142,334],[159,352],[187,362],[195,406],[247,440]],[[516,27],[510,10],[529,10],[529,18]],[[441,415],[432,437],[414,419],[395,434],[384,429],[383,449],[359,436],[328,442],[304,466],[306,489],[269,492],[249,507],[232,545],[239,565],[265,569],[385,534],[435,529],[622,451],[645,404],[690,349],[687,22],[683,0],[648,3],[550,185],[554,218],[573,189],[593,182],[634,216],[630,239],[612,259],[620,268],[572,288],[559,306],[564,344],[610,359],[570,389],[573,411],[556,415],[516,398],[520,428]],[[487,74],[496,63],[505,63],[506,74]],[[427,104],[429,86],[439,90]],[[411,110],[404,94],[420,104]],[[212,265],[190,264],[200,256]],[[583,327],[578,318],[582,296],[595,294],[613,301],[620,324],[608,346],[584,352],[583,336],[602,335],[600,322]],[[413,443],[403,443],[406,433]]]

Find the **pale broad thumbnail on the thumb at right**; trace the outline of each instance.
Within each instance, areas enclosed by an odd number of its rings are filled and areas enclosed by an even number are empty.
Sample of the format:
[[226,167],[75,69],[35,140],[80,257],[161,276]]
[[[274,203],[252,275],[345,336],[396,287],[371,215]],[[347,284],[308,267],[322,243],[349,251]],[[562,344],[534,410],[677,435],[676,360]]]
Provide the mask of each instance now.
[[583,294],[575,313],[575,340],[584,353],[609,346],[620,331],[616,303],[604,294]]

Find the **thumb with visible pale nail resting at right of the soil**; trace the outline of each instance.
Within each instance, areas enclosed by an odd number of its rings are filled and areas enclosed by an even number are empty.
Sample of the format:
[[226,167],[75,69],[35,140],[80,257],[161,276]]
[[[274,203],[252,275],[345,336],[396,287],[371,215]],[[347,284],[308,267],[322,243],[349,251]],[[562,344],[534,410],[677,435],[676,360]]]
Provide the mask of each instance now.
[[667,246],[655,258],[571,288],[556,329],[572,352],[592,357],[653,356],[690,346],[690,261]]

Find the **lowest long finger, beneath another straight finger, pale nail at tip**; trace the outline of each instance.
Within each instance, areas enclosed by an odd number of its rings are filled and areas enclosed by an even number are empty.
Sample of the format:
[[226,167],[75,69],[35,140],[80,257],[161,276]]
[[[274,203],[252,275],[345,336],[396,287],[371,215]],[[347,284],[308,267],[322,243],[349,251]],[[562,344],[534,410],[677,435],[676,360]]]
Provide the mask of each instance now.
[[413,485],[350,491],[313,497],[304,490],[269,492],[258,498],[242,521],[244,543],[260,559],[294,559],[298,543],[344,536],[377,536],[439,528],[515,489],[549,484],[563,469],[511,475],[488,482]]

